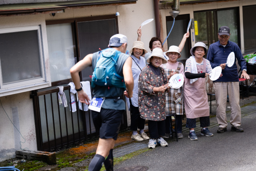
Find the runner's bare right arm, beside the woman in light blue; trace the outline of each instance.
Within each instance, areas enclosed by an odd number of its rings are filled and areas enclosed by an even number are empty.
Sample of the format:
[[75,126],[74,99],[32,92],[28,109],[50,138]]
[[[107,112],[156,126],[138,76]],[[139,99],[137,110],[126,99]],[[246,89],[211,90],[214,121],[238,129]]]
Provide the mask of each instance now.
[[132,97],[132,90],[134,86],[134,80],[132,77],[132,58],[129,56],[128,59],[125,61],[123,66],[123,75],[125,86],[127,88],[127,93],[129,97]]

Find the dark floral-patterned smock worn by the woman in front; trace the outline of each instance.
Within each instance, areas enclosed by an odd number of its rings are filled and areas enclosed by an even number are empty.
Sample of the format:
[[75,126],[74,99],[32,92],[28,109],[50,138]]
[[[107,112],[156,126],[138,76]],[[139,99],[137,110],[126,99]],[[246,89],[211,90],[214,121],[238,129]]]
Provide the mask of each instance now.
[[140,74],[138,88],[138,101],[141,118],[151,121],[163,121],[165,116],[165,93],[154,92],[154,87],[160,87],[168,83],[167,75],[163,68],[160,68],[160,75],[155,75],[151,68],[145,66]]

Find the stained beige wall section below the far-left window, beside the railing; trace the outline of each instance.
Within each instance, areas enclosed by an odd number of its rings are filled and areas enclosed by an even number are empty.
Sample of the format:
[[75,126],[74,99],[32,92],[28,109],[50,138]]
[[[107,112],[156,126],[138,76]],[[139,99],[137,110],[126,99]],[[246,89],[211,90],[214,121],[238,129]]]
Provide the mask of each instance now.
[[[20,148],[37,150],[33,102],[29,92],[4,96],[0,100],[3,105],[0,107],[0,161],[15,157],[15,151]],[[25,143],[20,147],[20,142]]]

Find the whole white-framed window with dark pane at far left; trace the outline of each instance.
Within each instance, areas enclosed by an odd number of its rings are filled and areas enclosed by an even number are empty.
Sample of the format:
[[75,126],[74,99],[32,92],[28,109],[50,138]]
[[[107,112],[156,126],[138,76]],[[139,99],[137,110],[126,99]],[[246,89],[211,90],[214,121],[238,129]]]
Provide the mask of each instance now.
[[45,82],[40,26],[0,29],[0,90]]

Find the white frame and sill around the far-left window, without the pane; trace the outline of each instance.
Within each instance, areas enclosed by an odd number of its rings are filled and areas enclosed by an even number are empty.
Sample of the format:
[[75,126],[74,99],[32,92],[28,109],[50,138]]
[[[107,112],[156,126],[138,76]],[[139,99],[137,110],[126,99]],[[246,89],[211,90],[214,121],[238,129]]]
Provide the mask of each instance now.
[[37,85],[43,85],[46,83],[48,84],[48,82],[46,82],[41,25],[3,28],[3,29],[0,29],[0,34],[32,31],[32,30],[37,30],[42,77],[35,78],[35,79],[32,78],[32,79],[27,79],[27,80],[21,80],[21,81],[16,81],[16,82],[10,82],[10,83],[3,83],[3,78],[2,78],[2,73],[1,73],[1,71],[2,71],[1,70],[1,60],[0,60],[0,74],[1,74],[1,76],[0,76],[0,93],[13,91],[13,89],[18,90],[18,89],[23,89],[23,88],[34,87]]

